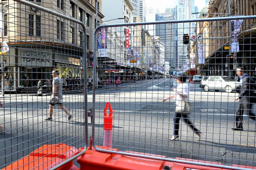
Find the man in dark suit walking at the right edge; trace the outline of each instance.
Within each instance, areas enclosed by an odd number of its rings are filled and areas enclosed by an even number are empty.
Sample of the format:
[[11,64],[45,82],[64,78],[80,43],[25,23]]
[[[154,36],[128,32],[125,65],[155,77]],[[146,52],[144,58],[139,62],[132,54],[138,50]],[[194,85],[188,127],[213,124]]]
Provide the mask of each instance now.
[[236,74],[240,77],[240,93],[235,100],[240,100],[236,110],[236,128],[232,129],[242,131],[243,114],[249,115],[250,118],[256,121],[255,114],[251,113],[252,103],[255,103],[255,101],[252,82],[250,82],[250,77],[244,72],[243,67],[237,67]]

